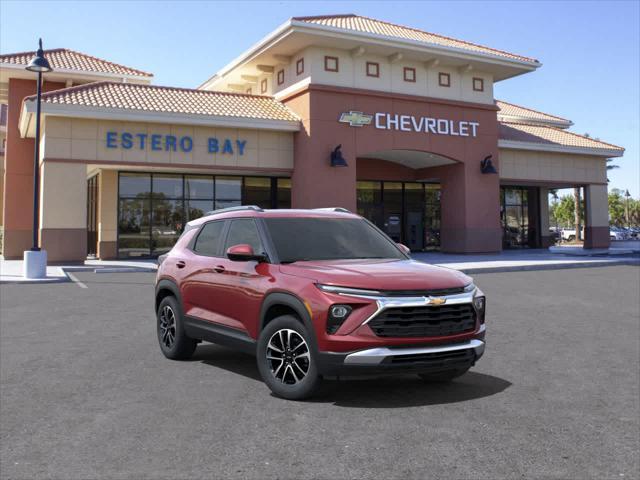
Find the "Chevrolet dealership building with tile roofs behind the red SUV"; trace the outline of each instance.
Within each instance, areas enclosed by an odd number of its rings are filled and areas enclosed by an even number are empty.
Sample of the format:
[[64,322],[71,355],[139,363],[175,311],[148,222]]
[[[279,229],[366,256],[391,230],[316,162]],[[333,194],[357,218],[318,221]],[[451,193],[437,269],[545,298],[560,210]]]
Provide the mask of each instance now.
[[[33,55],[0,55],[7,259],[31,247]],[[50,261],[155,256],[189,220],[241,204],[344,207],[414,251],[545,247],[549,191],[575,187],[585,247],[609,245],[606,160],[624,149],[494,98],[533,58],[356,15],[292,18],[196,89],[45,55]]]

